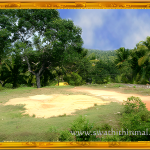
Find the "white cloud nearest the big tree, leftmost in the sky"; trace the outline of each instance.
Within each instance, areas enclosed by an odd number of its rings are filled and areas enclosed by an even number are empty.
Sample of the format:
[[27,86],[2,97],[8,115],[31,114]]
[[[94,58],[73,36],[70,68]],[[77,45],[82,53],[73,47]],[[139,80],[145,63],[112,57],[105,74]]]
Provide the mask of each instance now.
[[107,10],[78,10],[76,11],[74,24],[82,28],[82,38],[86,47],[95,44],[95,29],[103,26],[104,14]]

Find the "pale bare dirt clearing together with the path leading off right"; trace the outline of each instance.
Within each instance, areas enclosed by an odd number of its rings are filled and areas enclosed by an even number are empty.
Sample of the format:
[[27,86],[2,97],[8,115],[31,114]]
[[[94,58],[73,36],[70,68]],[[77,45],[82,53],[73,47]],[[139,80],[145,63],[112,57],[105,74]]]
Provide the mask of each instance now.
[[[140,97],[143,102],[147,103],[146,107],[150,111],[150,96],[141,96],[138,94],[123,94],[107,90],[94,90],[92,88],[76,87],[67,89],[71,92],[86,92],[87,95],[35,95],[22,98],[10,99],[4,105],[25,104],[26,111],[24,114],[36,118],[49,118],[60,115],[75,115],[76,110],[93,107],[94,104],[106,105],[111,101],[122,103],[130,96]],[[90,95],[88,95],[90,94]]]

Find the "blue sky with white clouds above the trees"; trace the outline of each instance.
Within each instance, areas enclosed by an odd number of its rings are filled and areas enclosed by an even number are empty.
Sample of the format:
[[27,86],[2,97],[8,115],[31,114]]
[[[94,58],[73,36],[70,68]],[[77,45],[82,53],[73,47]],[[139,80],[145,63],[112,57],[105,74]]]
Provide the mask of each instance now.
[[150,10],[142,9],[58,9],[62,19],[82,28],[84,48],[133,49],[150,36]]

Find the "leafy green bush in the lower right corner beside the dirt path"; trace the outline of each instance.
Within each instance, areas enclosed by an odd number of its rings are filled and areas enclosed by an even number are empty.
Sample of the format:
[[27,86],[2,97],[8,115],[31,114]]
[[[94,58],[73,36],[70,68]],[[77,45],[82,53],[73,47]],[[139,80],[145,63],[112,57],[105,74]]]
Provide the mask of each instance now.
[[[129,135],[123,135],[121,140],[129,141],[149,141],[150,135],[145,135],[143,131],[150,127],[150,113],[146,109],[145,104],[138,97],[130,97],[124,102],[125,111],[121,119],[124,131],[133,131]],[[136,136],[134,135],[136,133]],[[137,133],[139,133],[137,135]],[[141,134],[141,135],[140,135]],[[143,135],[142,135],[143,134]]]

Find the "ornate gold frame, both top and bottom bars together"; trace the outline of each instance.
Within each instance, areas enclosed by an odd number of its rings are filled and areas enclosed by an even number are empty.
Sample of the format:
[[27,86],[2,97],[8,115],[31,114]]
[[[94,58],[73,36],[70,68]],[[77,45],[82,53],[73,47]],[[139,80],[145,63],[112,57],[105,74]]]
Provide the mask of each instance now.
[[[0,0],[0,9],[150,9],[150,0]],[[150,149],[150,141],[144,142],[13,142],[0,143],[1,148],[101,148],[101,149]]]

